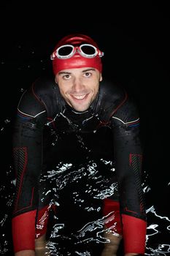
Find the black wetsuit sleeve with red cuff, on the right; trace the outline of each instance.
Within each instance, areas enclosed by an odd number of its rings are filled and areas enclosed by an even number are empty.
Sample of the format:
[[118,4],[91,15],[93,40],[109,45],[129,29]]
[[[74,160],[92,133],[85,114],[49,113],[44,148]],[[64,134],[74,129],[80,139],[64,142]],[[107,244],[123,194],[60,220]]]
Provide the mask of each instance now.
[[112,116],[125,253],[144,254],[146,214],[142,191],[139,115],[130,99]]

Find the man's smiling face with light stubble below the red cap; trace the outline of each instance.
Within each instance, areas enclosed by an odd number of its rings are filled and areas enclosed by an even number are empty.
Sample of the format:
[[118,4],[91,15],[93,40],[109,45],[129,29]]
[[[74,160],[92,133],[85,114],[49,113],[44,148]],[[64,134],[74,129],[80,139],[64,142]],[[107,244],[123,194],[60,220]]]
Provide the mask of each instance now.
[[96,98],[101,73],[91,67],[64,69],[55,75],[63,99],[77,111],[85,111]]

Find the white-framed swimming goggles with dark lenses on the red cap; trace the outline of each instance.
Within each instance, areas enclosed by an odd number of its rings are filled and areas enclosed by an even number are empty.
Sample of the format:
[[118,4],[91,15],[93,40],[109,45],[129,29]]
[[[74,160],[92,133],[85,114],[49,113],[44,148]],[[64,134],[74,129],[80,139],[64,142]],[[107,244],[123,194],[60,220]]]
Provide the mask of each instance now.
[[74,45],[62,45],[58,49],[56,49],[50,56],[50,59],[53,60],[55,58],[58,59],[69,59],[74,56],[74,54],[78,52],[81,56],[85,58],[94,58],[97,55],[99,57],[104,56],[104,53],[101,52],[101,50],[98,50],[93,45],[89,44],[83,44],[80,46],[74,46]]

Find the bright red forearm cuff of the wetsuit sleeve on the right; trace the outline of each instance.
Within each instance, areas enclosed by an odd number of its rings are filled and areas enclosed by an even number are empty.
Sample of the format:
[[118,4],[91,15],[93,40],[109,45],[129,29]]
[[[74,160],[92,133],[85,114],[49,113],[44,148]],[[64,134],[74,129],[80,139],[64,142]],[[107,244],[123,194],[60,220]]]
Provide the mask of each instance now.
[[147,223],[136,217],[122,214],[125,253],[144,255]]

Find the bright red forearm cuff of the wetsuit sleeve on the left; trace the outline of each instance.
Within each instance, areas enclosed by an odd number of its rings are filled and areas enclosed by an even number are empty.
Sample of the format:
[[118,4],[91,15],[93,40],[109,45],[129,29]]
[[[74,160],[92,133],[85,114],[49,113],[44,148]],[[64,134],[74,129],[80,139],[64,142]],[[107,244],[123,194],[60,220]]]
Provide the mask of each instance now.
[[20,214],[12,219],[14,252],[35,249],[36,210]]

